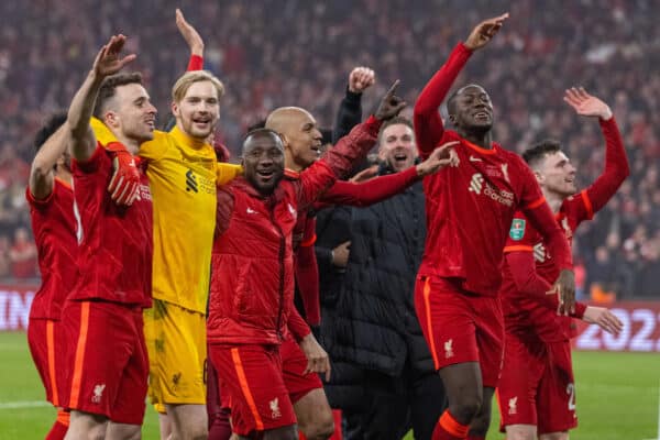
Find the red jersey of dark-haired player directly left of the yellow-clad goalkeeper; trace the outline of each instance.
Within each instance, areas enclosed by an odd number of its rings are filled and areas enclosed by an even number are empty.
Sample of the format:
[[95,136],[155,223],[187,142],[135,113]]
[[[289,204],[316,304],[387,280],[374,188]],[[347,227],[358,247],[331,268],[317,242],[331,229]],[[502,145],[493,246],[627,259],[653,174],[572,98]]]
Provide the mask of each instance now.
[[112,161],[100,143],[88,161],[73,161],[73,173],[79,248],[69,298],[151,307],[152,197],[146,174],[140,169],[133,205],[120,207],[108,193]]

